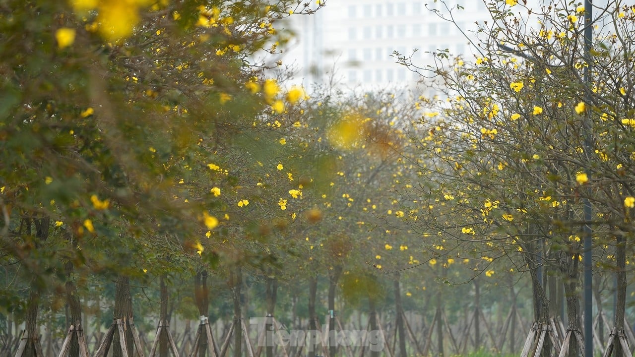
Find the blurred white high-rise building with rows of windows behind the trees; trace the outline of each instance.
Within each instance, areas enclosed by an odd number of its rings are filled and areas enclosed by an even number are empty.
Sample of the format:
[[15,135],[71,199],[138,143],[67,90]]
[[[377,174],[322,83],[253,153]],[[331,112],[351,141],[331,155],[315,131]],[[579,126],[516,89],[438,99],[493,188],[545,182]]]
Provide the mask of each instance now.
[[[455,24],[435,11],[446,18],[451,13]],[[420,77],[396,64],[394,51],[412,55],[421,67],[431,63],[430,53],[446,48],[472,57],[457,26],[469,35],[488,18],[482,0],[327,0],[314,15],[290,17],[297,39],[283,61],[297,65],[294,81],[305,85],[331,78],[349,88],[414,85]]]

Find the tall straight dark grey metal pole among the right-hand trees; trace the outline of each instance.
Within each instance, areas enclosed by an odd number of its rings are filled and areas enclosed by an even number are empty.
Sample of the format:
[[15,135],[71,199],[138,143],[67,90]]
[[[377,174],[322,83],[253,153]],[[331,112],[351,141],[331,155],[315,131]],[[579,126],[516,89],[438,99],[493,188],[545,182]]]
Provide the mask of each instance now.
[[[591,36],[593,34],[593,2],[592,0],[584,1],[584,61],[586,66],[584,67],[584,84],[586,91],[585,102],[591,102]],[[589,155],[592,152],[591,143],[591,126],[589,121],[589,114],[587,114],[584,125],[584,144],[585,154]],[[591,177],[591,170],[587,168],[587,176]],[[589,193],[591,190],[589,189]],[[593,293],[592,286],[592,219],[591,201],[589,201],[588,195],[584,198],[584,357],[593,357]]]

